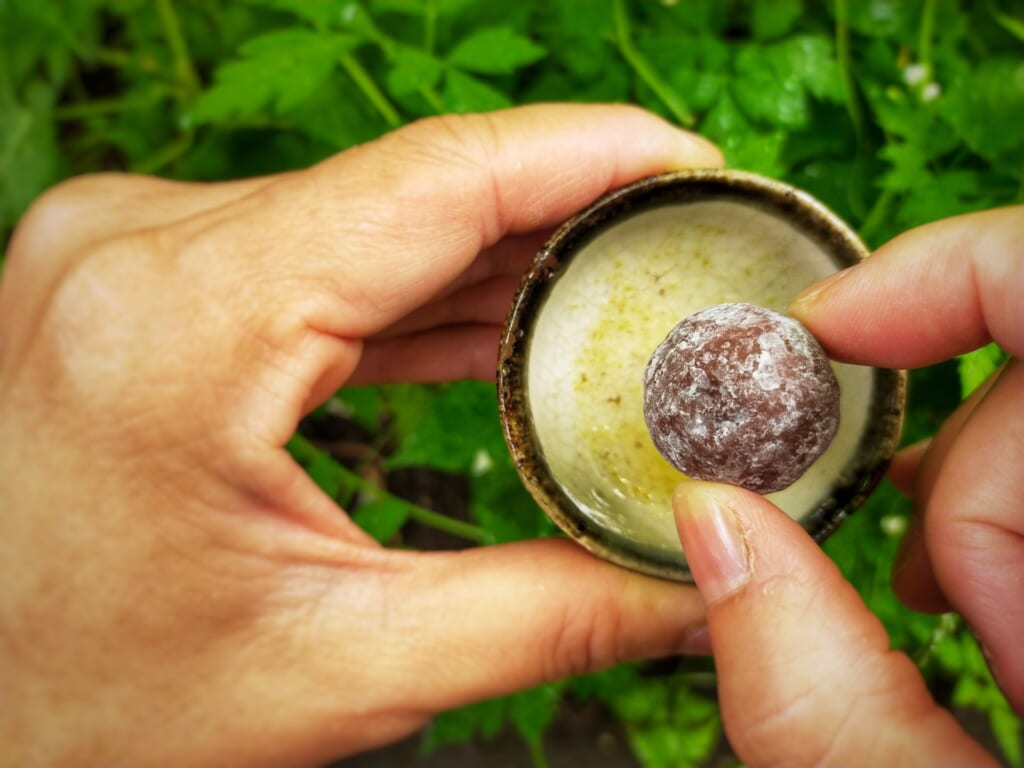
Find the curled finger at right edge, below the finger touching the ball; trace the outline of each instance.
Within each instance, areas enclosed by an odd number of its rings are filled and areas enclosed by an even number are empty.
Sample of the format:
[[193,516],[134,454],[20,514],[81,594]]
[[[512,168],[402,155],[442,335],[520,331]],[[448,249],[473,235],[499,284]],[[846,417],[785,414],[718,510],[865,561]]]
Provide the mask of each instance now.
[[1024,711],[1024,364],[1012,361],[949,446],[928,494],[924,537],[942,593]]

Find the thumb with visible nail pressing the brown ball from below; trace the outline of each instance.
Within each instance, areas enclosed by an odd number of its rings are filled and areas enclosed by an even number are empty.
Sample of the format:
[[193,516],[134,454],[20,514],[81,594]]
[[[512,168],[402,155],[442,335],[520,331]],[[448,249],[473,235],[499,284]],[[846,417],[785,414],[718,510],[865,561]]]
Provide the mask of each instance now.
[[684,483],[674,504],[748,765],[994,765],[799,524],[725,485]]

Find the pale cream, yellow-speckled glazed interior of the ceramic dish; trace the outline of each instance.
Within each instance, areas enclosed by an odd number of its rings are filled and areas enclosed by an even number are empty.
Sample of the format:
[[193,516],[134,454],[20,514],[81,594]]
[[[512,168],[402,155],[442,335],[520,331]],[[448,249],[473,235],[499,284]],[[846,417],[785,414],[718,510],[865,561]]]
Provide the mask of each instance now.
[[[748,301],[784,311],[836,269],[792,224],[725,200],[643,212],[599,234],[552,286],[529,339],[528,407],[555,480],[600,526],[682,560],[670,503],[682,475],[643,420],[650,353],[698,309]],[[797,519],[827,496],[867,421],[870,369],[834,368],[836,439],[800,480],[768,497]]]

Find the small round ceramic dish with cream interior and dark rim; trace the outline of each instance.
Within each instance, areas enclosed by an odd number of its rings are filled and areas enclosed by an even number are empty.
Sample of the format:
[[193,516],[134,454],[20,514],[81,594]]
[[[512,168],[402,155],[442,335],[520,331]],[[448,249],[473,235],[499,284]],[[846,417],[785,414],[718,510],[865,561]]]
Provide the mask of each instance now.
[[[569,537],[629,568],[691,581],[654,449],[643,372],[683,317],[745,301],[785,311],[867,254],[806,193],[751,173],[680,171],[614,191],[563,224],[524,275],[498,392],[522,481]],[[872,490],[899,440],[905,374],[834,364],[841,424],[795,484],[769,495],[818,542]]]

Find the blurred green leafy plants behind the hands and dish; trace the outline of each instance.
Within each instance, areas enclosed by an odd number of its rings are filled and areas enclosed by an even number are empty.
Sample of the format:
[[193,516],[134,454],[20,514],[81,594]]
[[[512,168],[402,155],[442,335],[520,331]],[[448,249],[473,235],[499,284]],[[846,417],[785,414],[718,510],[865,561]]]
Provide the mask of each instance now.
[[[424,116],[563,100],[643,104],[719,142],[729,165],[808,189],[878,246],[1022,202],[1022,54],[1024,10],[1009,0],[5,0],[0,232],[78,173],[237,178]],[[989,346],[913,372],[905,441],[1001,358]],[[478,544],[553,535],[508,459],[492,386],[343,390],[310,434],[338,419],[365,434],[356,460],[301,435],[293,453],[380,541],[409,546],[413,525]],[[389,490],[409,468],[457,478],[464,519]],[[983,714],[1019,766],[1020,720],[969,630],[890,590],[908,512],[884,484],[826,550],[937,697]],[[618,719],[645,766],[729,764],[702,662],[624,665],[446,713],[423,749],[512,728],[544,765],[547,728],[581,700]]]

